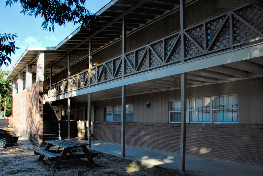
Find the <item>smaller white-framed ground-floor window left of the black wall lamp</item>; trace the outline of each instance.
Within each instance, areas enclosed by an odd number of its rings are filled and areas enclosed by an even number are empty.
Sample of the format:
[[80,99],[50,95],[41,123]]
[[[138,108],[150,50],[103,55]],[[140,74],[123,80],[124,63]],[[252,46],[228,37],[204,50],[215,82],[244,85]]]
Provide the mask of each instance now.
[[[133,122],[133,105],[126,105],[126,122]],[[107,106],[104,107],[105,122],[121,122],[122,121],[122,106]]]

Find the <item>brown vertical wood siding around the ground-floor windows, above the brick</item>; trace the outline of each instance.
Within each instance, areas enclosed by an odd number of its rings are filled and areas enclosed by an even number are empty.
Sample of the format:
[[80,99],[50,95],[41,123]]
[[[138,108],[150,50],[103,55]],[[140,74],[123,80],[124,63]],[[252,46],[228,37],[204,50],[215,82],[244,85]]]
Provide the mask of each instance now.
[[[213,85],[190,87],[187,98],[202,98],[238,94],[239,124],[262,124],[262,77],[231,81]],[[153,92],[127,97],[126,104],[133,104],[133,122],[169,123],[169,101],[180,100],[181,90]],[[95,121],[103,122],[103,107],[121,105],[121,99],[96,101]],[[147,109],[146,103],[150,103]]]

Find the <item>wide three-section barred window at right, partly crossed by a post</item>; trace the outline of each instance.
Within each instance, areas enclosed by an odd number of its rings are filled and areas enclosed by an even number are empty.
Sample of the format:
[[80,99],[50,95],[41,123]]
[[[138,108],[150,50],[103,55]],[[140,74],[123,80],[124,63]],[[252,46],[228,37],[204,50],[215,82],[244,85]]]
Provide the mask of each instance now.
[[[181,100],[169,101],[169,122],[181,122]],[[238,123],[238,95],[188,99],[187,123]]]

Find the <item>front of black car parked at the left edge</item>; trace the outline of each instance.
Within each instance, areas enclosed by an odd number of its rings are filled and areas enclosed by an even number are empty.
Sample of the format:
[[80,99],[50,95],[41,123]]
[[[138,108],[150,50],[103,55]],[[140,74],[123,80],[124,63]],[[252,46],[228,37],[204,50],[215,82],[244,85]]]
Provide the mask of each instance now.
[[0,127],[0,148],[17,143],[19,136],[10,128]]

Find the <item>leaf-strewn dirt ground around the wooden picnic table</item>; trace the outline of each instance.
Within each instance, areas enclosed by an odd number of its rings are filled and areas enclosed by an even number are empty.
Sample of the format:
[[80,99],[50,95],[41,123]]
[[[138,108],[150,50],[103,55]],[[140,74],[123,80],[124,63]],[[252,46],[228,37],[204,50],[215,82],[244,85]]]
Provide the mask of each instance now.
[[35,155],[33,149],[41,148],[35,144],[19,138],[16,144],[7,148],[0,148],[0,176],[8,175],[107,175],[107,176],[176,176],[161,170],[124,162],[115,158],[100,155],[93,158],[96,166],[90,168],[87,159],[62,161],[58,169],[50,169],[53,162],[44,158],[38,161],[39,155]]

